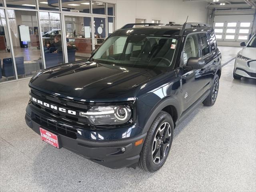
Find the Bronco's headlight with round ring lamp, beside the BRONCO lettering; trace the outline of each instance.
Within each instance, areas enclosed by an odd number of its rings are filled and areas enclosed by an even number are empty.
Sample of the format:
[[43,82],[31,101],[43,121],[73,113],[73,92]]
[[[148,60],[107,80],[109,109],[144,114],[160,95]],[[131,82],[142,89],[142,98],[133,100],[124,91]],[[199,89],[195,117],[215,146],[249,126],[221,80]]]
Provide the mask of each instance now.
[[88,118],[94,125],[120,125],[131,119],[132,110],[128,105],[93,106],[88,112],[80,112],[79,115]]

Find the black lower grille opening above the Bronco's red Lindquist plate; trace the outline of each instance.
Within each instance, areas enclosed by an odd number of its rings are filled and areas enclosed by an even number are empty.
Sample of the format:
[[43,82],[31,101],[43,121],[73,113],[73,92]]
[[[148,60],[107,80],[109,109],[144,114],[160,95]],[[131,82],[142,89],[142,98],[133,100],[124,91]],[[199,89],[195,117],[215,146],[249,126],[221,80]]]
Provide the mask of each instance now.
[[32,112],[32,120],[34,120],[36,123],[42,125],[44,128],[56,132],[58,134],[76,139],[77,136],[77,130],[73,128],[72,126],[62,124],[59,122],[56,122],[55,120],[50,120],[48,118],[45,118],[43,116],[40,116],[38,114],[35,114]]

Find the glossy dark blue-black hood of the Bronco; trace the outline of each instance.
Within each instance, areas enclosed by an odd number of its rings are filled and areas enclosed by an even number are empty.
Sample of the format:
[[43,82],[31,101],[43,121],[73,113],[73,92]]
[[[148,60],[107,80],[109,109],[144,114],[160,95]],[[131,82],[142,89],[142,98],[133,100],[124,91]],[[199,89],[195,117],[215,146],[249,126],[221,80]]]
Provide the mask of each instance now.
[[159,74],[162,71],[80,61],[39,72],[29,86],[84,102],[125,101],[134,100],[140,86]]

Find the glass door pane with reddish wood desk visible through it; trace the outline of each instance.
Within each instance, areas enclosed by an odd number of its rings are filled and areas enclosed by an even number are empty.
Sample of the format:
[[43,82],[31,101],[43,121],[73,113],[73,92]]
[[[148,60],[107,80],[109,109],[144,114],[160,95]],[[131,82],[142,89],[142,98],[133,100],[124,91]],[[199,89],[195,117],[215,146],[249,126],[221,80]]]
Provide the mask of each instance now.
[[91,17],[64,15],[68,62],[89,58],[92,52]]

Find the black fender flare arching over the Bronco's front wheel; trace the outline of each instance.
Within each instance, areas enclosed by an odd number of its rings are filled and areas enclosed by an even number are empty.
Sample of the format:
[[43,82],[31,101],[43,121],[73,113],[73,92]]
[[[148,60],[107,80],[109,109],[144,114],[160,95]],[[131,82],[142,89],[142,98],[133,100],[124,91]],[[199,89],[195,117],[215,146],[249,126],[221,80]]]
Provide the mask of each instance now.
[[[155,106],[154,108],[152,108],[151,112],[150,112],[150,115],[148,116],[148,120],[144,126],[144,129],[143,129],[143,132],[142,134],[148,132],[152,122],[154,121],[154,119],[156,118],[156,116],[158,115],[158,113],[160,113],[160,111],[165,108],[166,106],[169,106],[169,105],[172,105],[176,108],[177,110],[177,121],[178,119],[180,118],[180,115],[182,113],[182,108],[181,108],[181,105],[180,103],[178,102],[178,100],[173,97],[173,96],[169,96],[169,97],[166,97],[162,100],[160,100]],[[176,122],[174,122],[175,124]]]

